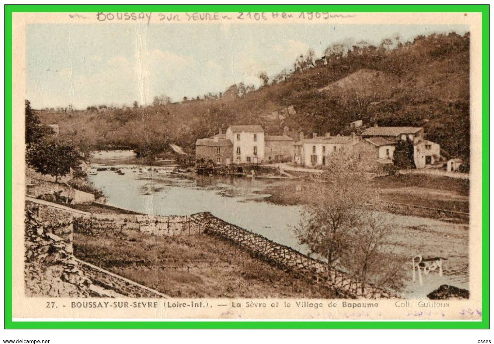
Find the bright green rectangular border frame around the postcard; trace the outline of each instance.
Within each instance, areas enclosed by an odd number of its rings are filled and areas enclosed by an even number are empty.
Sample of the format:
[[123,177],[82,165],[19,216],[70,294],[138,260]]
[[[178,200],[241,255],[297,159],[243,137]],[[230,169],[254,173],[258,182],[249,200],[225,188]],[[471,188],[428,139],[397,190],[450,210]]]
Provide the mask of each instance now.
[[[14,12],[481,12],[482,321],[12,321],[12,13]],[[488,329],[489,5],[5,5],[5,329]],[[7,215],[8,214],[8,215]]]

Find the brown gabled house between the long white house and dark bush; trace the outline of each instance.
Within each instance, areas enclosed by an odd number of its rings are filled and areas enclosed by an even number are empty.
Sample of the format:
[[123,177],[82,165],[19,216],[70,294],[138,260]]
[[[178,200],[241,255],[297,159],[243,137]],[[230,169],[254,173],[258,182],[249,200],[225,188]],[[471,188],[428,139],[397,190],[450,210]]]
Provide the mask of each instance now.
[[384,137],[364,138],[352,146],[358,155],[359,168],[368,172],[382,171],[393,165],[396,142]]

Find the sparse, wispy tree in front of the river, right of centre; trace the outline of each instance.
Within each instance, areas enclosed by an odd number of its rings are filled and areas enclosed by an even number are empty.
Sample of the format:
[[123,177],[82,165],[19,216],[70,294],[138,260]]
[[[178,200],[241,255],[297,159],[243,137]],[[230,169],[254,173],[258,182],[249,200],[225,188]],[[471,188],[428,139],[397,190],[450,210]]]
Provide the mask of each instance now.
[[365,203],[375,192],[365,173],[357,168],[355,154],[340,150],[327,160],[328,170],[303,191],[306,205],[295,235],[311,254],[326,258],[330,271],[348,250],[349,232],[359,223]]

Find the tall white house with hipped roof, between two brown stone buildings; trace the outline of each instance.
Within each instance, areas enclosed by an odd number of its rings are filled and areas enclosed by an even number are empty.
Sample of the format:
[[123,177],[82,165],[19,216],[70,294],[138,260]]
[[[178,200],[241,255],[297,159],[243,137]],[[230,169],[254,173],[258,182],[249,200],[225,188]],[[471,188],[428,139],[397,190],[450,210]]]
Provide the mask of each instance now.
[[264,161],[264,129],[261,126],[230,126],[226,138],[233,144],[233,164]]

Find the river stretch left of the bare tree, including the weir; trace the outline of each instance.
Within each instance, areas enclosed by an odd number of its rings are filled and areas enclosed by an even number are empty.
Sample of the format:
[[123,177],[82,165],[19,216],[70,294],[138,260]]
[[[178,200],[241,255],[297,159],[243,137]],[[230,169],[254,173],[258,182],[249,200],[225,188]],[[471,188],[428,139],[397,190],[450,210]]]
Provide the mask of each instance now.
[[[96,168],[116,167],[95,172]],[[280,180],[233,176],[173,174],[173,167],[136,164],[131,151],[97,152],[89,180],[101,189],[107,203],[150,215],[211,214],[302,253],[293,226],[300,220],[300,206],[279,205],[263,200],[269,186]],[[151,171],[149,171],[151,170]],[[96,173],[96,174],[92,174]]]

